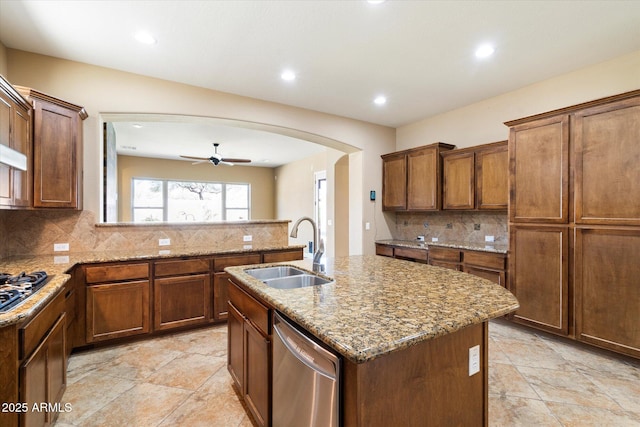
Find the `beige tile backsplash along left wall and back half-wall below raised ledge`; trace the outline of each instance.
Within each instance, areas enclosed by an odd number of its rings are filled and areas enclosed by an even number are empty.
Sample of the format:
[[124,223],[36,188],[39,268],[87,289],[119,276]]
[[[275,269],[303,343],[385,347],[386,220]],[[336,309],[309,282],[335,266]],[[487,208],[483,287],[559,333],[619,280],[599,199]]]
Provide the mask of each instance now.
[[69,252],[162,249],[159,239],[170,239],[170,248],[228,248],[251,235],[255,247],[286,246],[288,221],[251,221],[217,224],[96,224],[91,211],[0,210],[0,258],[15,255],[48,255],[54,244],[68,243]]

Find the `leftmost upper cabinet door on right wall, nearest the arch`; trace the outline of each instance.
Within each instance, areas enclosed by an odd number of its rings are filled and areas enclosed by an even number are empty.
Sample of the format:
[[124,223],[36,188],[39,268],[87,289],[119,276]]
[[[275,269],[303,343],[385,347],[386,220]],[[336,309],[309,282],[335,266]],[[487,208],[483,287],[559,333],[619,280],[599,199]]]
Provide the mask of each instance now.
[[382,158],[382,210],[407,208],[407,167],[404,153]]

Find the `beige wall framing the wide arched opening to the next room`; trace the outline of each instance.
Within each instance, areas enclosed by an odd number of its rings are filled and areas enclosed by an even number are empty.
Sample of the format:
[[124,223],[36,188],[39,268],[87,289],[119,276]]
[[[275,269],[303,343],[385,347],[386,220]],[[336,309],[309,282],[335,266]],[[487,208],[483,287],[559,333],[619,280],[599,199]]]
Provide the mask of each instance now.
[[[378,192],[382,182],[380,155],[395,149],[395,129],[330,114],[14,49],[7,49],[7,66],[11,83],[37,88],[88,111],[89,118],[84,121],[85,209],[95,213],[100,211],[102,194],[102,113],[182,114],[249,121],[273,125],[334,148],[348,144],[362,150],[358,164],[350,168],[350,186]],[[366,170],[363,165],[367,165]],[[358,198],[356,203],[368,203],[364,192],[352,194]],[[359,212],[364,212],[362,207]],[[362,227],[372,217],[359,217],[357,221]],[[358,239],[351,253],[374,253],[373,233],[357,230],[354,235]]]

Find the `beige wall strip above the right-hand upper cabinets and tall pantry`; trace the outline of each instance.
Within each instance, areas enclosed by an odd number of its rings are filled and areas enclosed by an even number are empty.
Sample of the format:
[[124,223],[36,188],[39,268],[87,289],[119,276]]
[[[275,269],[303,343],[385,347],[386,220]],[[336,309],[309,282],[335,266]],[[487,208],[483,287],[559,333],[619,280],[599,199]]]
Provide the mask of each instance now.
[[398,150],[436,141],[458,148],[505,140],[509,120],[640,89],[640,51],[397,129]]

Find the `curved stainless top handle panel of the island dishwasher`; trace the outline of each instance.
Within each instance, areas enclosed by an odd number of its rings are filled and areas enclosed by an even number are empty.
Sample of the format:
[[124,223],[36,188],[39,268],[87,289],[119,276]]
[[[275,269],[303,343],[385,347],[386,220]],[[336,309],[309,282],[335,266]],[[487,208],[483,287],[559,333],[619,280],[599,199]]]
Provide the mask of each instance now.
[[337,380],[340,359],[335,354],[305,336],[278,313],[274,314],[273,330],[300,362],[329,379]]

